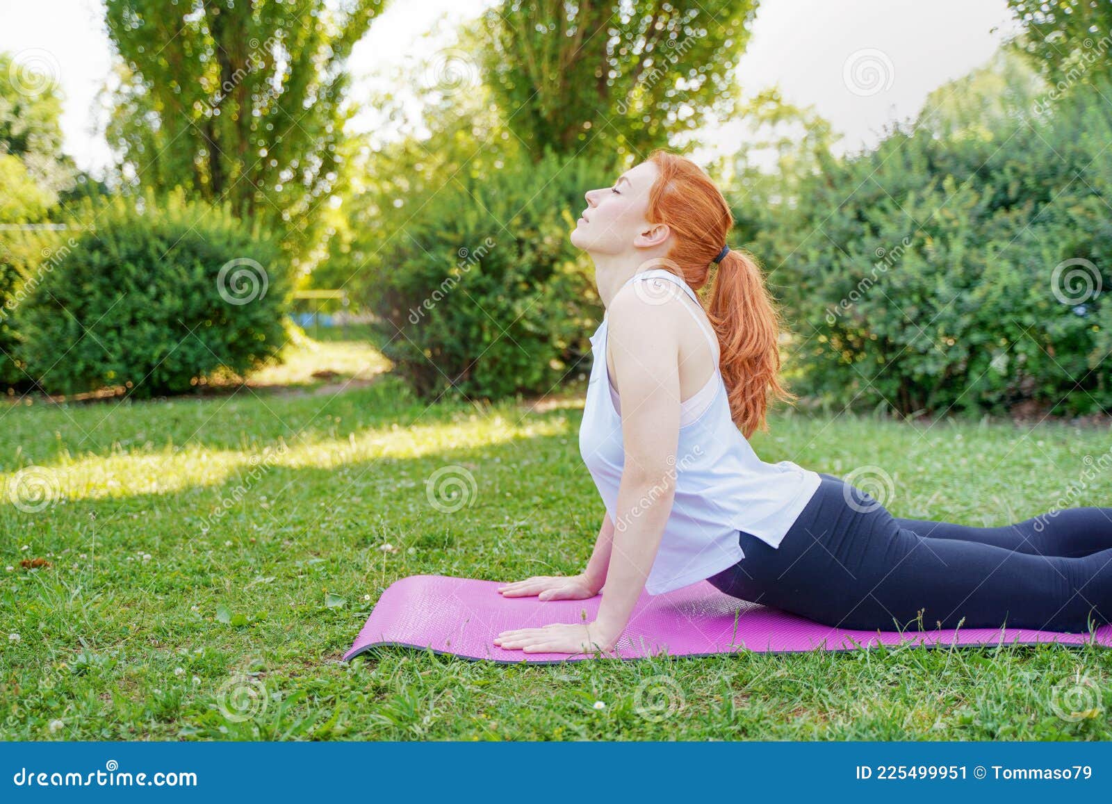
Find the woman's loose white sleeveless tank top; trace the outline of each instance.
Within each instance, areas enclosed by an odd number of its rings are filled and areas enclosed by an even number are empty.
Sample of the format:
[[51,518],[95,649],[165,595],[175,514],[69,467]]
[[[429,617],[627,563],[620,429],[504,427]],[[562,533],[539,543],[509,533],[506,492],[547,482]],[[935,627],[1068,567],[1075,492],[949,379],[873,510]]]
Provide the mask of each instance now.
[[[702,308],[691,286],[665,268],[641,271],[626,285],[648,277],[675,282]],[[677,299],[677,304],[683,301]],[[579,426],[579,454],[607,514],[617,524],[618,485],[625,455],[622,416],[606,367],[606,326],[604,316],[590,336],[594,365]],[[712,337],[705,328],[704,335]],[[645,583],[651,595],[703,580],[744,558],[738,530],[780,547],[822,480],[818,473],[791,460],[777,464],[761,460],[731,418],[726,394],[726,384],[716,367],[709,383],[681,405],[684,409],[687,403],[693,403],[686,407],[687,420],[681,418],[674,466],[675,502]]]

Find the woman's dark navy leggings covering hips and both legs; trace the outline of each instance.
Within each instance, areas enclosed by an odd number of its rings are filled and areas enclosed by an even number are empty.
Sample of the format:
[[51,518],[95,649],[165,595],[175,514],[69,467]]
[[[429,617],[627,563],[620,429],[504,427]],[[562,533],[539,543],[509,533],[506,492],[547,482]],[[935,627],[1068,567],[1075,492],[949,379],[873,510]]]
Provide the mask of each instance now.
[[716,588],[863,631],[1086,633],[1112,619],[1112,508],[1065,508],[1003,527],[897,519],[856,486],[820,474],[778,548],[738,532],[745,557],[708,578]]

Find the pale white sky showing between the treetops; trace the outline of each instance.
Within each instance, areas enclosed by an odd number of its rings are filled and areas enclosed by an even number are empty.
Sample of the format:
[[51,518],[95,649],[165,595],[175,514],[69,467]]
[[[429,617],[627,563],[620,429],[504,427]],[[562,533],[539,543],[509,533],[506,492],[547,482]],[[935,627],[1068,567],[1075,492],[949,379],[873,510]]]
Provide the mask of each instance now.
[[[454,29],[492,0],[394,0],[356,46],[353,92],[383,87],[397,64],[435,59]],[[995,30],[994,30],[995,29]],[[913,118],[927,93],[980,67],[1016,30],[1004,0],[764,0],[738,67],[744,96],[778,85],[842,133],[842,151],[875,145],[886,125]],[[430,33],[431,31],[431,33]],[[112,52],[100,0],[0,0],[0,51],[34,63],[63,96],[64,150],[102,176],[111,155],[97,93]],[[369,130],[373,118],[357,118]],[[711,158],[736,150],[741,121],[705,132]]]

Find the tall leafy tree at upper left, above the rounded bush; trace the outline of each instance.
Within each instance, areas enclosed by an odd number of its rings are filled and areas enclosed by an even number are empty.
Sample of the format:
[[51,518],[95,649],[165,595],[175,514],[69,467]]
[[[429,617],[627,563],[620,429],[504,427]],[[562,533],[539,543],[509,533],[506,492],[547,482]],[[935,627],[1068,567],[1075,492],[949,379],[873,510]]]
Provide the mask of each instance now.
[[384,1],[106,0],[121,175],[228,200],[304,258],[338,189],[345,61]]

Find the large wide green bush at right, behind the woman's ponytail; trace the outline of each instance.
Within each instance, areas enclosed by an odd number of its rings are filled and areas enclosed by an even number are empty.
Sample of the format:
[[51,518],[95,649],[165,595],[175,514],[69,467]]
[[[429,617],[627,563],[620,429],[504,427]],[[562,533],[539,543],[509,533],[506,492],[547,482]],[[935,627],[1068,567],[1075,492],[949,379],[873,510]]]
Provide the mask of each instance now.
[[805,180],[753,246],[797,322],[793,390],[904,415],[1112,409],[1102,107],[973,105],[964,127],[895,132]]

